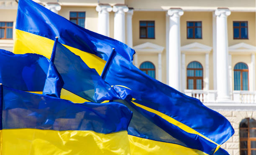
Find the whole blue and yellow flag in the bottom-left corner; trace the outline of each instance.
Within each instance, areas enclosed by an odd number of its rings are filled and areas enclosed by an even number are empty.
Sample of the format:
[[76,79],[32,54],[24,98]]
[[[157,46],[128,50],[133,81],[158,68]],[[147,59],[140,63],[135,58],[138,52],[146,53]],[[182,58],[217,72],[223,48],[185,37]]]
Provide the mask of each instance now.
[[132,112],[117,102],[75,104],[0,84],[1,155],[128,155]]

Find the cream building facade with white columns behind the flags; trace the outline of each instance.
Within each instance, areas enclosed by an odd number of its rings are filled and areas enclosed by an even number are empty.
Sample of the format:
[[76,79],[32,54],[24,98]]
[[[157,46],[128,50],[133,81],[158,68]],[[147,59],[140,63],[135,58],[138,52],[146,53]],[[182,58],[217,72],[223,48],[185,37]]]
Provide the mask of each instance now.
[[[224,115],[231,155],[256,155],[255,0],[36,0],[136,50],[134,65]],[[18,3],[0,0],[0,48],[13,50]],[[29,52],[29,51],[28,51]]]

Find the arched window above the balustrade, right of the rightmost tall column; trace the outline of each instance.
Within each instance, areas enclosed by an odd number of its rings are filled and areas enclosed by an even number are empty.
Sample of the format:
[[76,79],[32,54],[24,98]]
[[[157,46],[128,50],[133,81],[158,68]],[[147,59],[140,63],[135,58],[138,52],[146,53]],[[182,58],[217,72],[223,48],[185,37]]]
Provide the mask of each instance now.
[[248,66],[239,62],[234,67],[234,90],[249,90]]

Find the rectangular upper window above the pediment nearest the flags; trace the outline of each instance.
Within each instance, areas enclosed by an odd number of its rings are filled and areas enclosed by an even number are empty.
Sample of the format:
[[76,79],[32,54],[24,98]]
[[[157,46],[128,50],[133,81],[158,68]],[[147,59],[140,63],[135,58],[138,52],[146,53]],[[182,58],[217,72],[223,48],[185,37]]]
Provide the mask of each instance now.
[[140,38],[155,38],[155,21],[140,21]]

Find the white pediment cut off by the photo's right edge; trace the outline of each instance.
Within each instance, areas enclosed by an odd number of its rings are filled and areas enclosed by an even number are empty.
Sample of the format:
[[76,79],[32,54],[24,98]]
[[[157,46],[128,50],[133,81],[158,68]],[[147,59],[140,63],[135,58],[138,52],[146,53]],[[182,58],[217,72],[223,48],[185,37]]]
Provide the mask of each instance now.
[[256,52],[256,47],[253,45],[246,44],[244,42],[232,45],[228,47],[228,51],[231,54],[245,54],[245,53],[254,53]]

